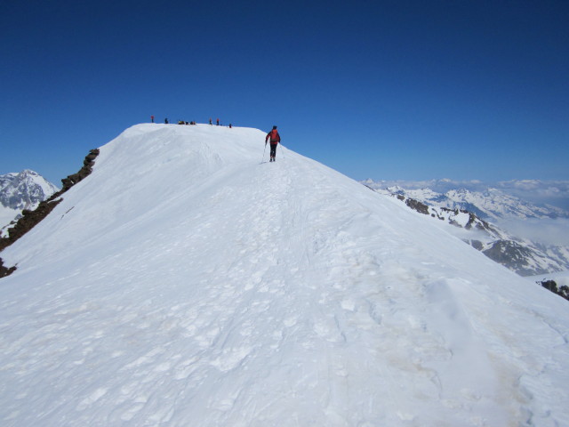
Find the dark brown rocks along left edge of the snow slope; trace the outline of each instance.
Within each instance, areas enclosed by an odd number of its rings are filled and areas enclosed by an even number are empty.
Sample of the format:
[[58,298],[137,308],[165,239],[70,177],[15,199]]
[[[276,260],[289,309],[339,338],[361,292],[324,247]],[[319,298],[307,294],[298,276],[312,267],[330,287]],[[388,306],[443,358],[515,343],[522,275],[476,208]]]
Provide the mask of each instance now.
[[[24,210],[22,211],[22,216],[14,226],[8,230],[8,236],[6,238],[0,238],[0,251],[4,250],[5,247],[12,245],[16,240],[21,238],[29,230],[33,229],[39,222],[41,222],[50,212],[52,212],[55,206],[59,205],[62,198],[61,195],[65,193],[68,189],[73,187],[77,182],[84,180],[87,176],[92,173],[92,166],[95,164],[95,158],[99,156],[99,149],[92,149],[89,154],[84,158],[83,167],[79,172],[69,175],[67,178],[63,178],[61,183],[63,188],[54,193],[52,197],[48,198],[44,202],[41,202],[34,211]],[[6,268],[3,265],[2,258],[0,258],[0,278],[12,274],[16,270],[16,266]]]

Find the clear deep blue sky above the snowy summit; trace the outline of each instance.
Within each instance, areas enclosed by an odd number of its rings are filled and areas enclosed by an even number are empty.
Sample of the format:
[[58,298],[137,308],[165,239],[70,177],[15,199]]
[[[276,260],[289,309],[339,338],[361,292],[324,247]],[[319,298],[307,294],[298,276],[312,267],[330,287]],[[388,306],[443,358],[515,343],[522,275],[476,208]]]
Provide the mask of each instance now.
[[[3,2],[0,173],[168,117],[357,180],[568,180],[569,2]],[[262,149],[260,146],[260,155]]]

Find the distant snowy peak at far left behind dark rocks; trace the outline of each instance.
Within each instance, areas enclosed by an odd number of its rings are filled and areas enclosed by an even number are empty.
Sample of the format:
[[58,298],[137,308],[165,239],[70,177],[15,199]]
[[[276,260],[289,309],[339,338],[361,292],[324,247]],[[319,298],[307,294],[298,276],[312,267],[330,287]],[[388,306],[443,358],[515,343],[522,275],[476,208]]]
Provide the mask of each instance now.
[[24,209],[34,210],[59,189],[30,170],[0,175],[0,236]]

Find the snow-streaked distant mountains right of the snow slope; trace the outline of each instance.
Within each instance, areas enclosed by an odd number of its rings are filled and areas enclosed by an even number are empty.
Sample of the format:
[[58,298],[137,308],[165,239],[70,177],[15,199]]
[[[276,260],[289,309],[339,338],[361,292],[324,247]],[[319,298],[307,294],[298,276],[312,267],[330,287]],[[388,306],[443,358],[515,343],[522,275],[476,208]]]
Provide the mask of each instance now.
[[536,205],[501,189],[452,189],[451,181],[431,181],[438,187],[443,184],[445,193],[429,188],[404,189],[398,185],[381,188],[381,182],[371,180],[363,183],[378,193],[397,197],[421,214],[453,225],[446,229],[521,276],[569,270],[569,247],[520,238],[493,223],[504,219],[569,218],[569,213],[559,207]]

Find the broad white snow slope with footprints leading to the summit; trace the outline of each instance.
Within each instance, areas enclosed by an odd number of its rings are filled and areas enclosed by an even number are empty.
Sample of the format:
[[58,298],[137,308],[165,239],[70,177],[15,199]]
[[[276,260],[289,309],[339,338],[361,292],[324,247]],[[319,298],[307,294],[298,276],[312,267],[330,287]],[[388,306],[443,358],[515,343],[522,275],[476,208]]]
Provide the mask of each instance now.
[[565,300],[263,141],[133,126],[4,250],[3,426],[569,425]]

